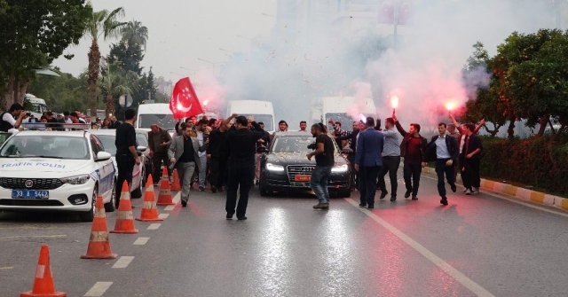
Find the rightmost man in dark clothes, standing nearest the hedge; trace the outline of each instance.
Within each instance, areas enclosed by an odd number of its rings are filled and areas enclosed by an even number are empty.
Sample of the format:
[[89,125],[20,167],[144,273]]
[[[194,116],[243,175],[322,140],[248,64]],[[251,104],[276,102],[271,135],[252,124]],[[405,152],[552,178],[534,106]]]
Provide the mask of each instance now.
[[479,177],[479,164],[483,145],[481,138],[475,135],[475,126],[472,123],[464,124],[465,139],[460,154],[461,180],[466,191],[465,194],[477,194],[481,179]]

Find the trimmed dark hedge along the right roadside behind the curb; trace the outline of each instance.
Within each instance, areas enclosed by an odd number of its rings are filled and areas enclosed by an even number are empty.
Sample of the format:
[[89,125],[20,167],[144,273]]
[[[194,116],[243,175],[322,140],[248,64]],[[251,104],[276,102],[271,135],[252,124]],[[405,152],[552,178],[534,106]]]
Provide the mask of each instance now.
[[567,142],[553,143],[549,137],[512,140],[482,137],[482,141],[482,177],[568,196]]

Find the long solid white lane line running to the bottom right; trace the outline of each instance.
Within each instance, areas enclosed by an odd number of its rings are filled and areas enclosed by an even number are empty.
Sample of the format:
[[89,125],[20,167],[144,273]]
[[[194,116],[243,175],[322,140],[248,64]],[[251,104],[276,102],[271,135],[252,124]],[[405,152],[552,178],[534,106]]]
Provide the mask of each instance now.
[[492,293],[489,293],[481,285],[478,285],[472,279],[470,279],[469,277],[466,277],[459,270],[454,269],[454,267],[452,267],[452,265],[450,265],[450,264],[446,263],[444,260],[440,259],[436,254],[430,252],[426,247],[424,247],[421,244],[419,244],[418,242],[416,242],[413,238],[408,237],[405,233],[403,233],[402,231],[399,231],[393,225],[391,225],[390,223],[387,223],[381,217],[379,217],[378,215],[375,215],[370,210],[368,210],[366,208],[360,208],[359,203],[355,202],[355,200],[350,199],[350,198],[345,198],[345,200],[347,202],[351,203],[351,205],[353,207],[357,207],[365,215],[372,218],[376,223],[379,223],[386,230],[390,231],[390,233],[394,234],[396,237],[398,237],[402,241],[406,242],[406,244],[408,246],[414,248],[414,250],[416,252],[422,254],[424,256],[424,258],[426,258],[430,262],[434,263],[436,266],[438,266],[439,269],[444,270],[450,277],[454,277],[454,279],[457,280],[458,282],[460,282],[461,285],[464,285],[465,287],[467,287],[471,292],[475,293],[477,296],[494,297],[494,295]]

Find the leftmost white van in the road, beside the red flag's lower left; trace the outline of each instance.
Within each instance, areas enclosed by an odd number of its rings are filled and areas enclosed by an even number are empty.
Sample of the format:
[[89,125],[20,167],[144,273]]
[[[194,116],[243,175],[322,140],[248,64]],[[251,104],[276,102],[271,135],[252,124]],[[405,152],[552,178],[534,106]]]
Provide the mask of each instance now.
[[160,128],[168,129],[173,134],[176,123],[169,103],[141,104],[138,106],[138,119],[134,128],[149,131],[152,124],[158,124]]

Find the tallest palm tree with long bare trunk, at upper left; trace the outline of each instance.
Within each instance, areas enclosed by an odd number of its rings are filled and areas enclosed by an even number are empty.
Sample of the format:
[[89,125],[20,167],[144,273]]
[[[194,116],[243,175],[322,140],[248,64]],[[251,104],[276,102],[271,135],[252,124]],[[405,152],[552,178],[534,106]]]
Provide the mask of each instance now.
[[[92,6],[91,1],[87,5]],[[91,114],[97,114],[97,80],[99,79],[99,37],[103,36],[103,40],[116,38],[125,22],[118,19],[124,16],[124,9],[119,7],[112,12],[102,10],[100,12],[92,12],[92,16],[87,20],[84,34],[91,38],[91,48],[89,50],[89,105]]]

